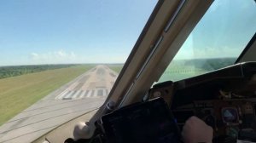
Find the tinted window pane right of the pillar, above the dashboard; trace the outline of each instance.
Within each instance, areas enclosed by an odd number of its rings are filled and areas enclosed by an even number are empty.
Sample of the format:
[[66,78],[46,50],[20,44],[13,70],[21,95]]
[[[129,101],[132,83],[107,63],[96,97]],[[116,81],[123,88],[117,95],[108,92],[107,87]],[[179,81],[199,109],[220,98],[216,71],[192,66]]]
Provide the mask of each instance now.
[[233,65],[256,31],[253,0],[216,0],[160,77],[177,81]]

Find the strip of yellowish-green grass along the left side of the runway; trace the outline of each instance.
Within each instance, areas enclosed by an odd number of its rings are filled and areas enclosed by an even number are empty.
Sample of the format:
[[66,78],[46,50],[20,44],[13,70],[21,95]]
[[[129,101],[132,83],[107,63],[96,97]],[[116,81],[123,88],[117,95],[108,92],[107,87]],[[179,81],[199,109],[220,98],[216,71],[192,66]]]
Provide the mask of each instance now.
[[93,66],[72,66],[0,79],[0,125]]

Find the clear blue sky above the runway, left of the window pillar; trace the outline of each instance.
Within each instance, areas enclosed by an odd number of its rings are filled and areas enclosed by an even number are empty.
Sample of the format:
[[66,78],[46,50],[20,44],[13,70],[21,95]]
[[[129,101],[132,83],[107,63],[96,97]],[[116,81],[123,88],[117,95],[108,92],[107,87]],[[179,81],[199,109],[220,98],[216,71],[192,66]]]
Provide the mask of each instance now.
[[0,66],[125,62],[155,4],[2,0]]

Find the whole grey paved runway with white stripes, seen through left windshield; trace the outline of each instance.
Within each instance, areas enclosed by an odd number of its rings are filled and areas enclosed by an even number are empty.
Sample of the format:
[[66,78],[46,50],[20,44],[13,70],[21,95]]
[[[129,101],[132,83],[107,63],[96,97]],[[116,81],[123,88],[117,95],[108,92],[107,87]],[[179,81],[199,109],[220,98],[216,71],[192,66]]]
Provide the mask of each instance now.
[[0,142],[27,143],[101,106],[118,74],[95,66],[39,100],[0,127]]

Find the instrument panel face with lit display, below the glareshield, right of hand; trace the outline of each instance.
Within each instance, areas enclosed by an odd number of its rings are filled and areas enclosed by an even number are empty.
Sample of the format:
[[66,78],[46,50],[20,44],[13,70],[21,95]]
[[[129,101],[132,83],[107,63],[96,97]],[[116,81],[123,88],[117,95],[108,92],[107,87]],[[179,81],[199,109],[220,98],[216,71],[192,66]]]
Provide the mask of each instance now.
[[256,131],[255,106],[250,100],[196,100],[172,113],[181,129],[189,117],[196,116],[212,127],[214,136],[236,139],[240,131]]

